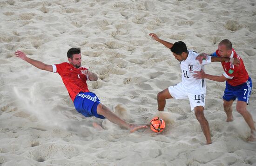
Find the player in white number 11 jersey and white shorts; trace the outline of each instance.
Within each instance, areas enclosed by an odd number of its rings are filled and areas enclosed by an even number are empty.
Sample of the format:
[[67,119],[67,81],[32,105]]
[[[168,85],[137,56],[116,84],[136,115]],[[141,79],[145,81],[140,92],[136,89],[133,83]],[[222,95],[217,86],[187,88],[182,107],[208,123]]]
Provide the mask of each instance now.
[[230,58],[208,56],[205,60],[202,61],[202,64],[200,64],[199,61],[195,59],[198,54],[195,51],[188,50],[186,44],[182,41],[172,44],[158,38],[154,33],[150,33],[149,35],[173,52],[174,57],[180,61],[182,70],[181,83],[170,86],[157,94],[158,110],[164,110],[166,99],[189,98],[191,110],[195,111],[196,119],[201,125],[203,134],[206,138],[206,143],[211,144],[209,123],[203,114],[205,105],[204,98],[206,94],[205,81],[204,79],[195,79],[193,74],[195,74],[194,71],[201,71],[203,69],[203,65],[205,64],[209,64],[211,62],[229,61]]

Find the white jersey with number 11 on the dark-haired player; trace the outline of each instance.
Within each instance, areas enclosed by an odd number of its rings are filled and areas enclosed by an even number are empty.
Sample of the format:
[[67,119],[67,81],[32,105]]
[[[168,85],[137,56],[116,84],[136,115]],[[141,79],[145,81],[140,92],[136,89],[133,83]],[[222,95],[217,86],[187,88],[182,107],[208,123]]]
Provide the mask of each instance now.
[[198,53],[193,50],[188,51],[189,55],[187,59],[180,62],[182,70],[182,87],[188,93],[203,93],[206,91],[204,79],[195,79],[193,75],[195,74],[194,71],[204,70],[204,65],[211,63],[211,57],[207,56],[208,58],[203,60],[202,64],[200,64],[199,61],[195,59]]

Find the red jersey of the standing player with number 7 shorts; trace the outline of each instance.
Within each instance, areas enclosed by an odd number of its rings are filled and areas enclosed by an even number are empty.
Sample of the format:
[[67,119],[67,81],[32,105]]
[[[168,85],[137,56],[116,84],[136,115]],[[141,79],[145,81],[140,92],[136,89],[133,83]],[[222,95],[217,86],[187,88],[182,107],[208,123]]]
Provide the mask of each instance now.
[[[221,57],[219,54],[219,50],[216,50],[216,55],[218,57]],[[227,80],[227,82],[231,86],[237,86],[237,85],[241,85],[241,84],[245,83],[248,80],[249,75],[244,67],[242,58],[236,54],[236,51],[233,48],[232,48],[232,54],[231,54],[230,58],[232,58],[232,57],[238,58],[240,60],[240,65],[235,66],[234,64],[231,64],[230,62],[222,62],[222,67],[225,71],[223,75],[226,78],[229,78]]]

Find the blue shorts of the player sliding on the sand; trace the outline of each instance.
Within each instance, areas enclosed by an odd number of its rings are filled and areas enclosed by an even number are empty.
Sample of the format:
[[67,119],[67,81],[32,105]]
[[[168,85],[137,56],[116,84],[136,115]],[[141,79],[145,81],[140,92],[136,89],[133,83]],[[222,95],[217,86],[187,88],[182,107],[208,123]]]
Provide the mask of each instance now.
[[74,98],[74,107],[85,117],[95,116],[105,119],[104,116],[97,114],[97,106],[101,103],[99,101],[99,98],[92,92],[79,92]]

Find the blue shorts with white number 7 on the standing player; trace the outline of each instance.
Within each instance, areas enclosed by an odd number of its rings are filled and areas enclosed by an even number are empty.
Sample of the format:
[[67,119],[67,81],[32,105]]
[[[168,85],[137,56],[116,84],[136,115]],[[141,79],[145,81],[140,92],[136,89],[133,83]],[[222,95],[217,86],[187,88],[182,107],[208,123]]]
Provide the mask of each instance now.
[[251,89],[252,82],[250,77],[245,83],[238,86],[231,86],[228,82],[226,82],[226,89],[224,91],[222,98],[228,102],[230,100],[236,100],[237,98],[238,101],[243,101],[248,104]]

